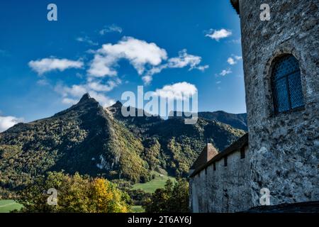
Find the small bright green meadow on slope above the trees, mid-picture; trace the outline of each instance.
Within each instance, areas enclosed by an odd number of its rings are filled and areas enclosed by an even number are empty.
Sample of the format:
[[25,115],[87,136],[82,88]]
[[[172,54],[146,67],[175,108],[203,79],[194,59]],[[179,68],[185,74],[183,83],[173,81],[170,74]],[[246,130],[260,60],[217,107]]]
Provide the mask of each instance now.
[[167,175],[161,175],[158,172],[152,172],[155,175],[155,179],[152,179],[150,182],[144,184],[134,184],[133,189],[142,189],[145,192],[153,193],[156,189],[163,188],[167,179],[172,179],[175,181],[174,177],[169,177]]

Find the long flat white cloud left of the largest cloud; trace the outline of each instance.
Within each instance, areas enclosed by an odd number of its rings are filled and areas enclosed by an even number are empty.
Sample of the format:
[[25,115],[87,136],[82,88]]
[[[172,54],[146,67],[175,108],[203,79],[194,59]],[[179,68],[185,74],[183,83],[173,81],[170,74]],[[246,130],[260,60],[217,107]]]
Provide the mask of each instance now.
[[35,72],[39,75],[45,72],[50,72],[54,70],[60,70],[61,72],[69,68],[82,68],[83,62],[80,60],[73,61],[67,59],[57,59],[57,58],[43,58],[41,60],[30,61],[28,63]]

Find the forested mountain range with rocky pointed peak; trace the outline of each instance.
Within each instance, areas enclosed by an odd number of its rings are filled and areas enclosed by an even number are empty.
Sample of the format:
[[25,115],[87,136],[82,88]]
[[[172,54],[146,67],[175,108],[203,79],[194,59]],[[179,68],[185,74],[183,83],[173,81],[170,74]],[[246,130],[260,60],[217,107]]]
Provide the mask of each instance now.
[[146,182],[159,168],[186,176],[206,143],[223,150],[247,126],[245,114],[202,112],[186,125],[183,118],[123,117],[121,108],[118,101],[103,109],[85,94],[50,118],[0,133],[0,187],[20,189],[49,170],[131,182]]

